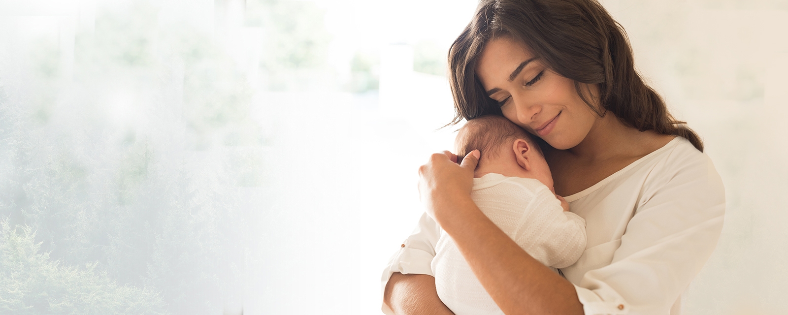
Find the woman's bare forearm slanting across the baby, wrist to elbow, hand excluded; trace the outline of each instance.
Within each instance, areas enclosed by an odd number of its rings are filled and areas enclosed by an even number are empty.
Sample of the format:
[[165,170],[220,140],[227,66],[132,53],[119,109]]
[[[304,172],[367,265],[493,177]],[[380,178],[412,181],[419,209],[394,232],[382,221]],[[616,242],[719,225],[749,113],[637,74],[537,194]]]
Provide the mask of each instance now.
[[[433,199],[436,218],[470,269],[506,314],[582,315],[574,286],[533,259],[496,227],[470,198]],[[442,208],[446,207],[446,208]]]

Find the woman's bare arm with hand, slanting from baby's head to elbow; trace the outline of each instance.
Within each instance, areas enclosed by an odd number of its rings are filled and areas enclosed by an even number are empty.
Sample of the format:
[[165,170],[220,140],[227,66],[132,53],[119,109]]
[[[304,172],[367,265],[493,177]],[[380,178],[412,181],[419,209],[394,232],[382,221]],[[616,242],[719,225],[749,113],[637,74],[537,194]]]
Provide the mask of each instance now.
[[419,169],[422,201],[500,309],[507,314],[582,314],[574,286],[522,250],[470,198],[478,151],[461,165],[455,161],[448,152],[433,154]]

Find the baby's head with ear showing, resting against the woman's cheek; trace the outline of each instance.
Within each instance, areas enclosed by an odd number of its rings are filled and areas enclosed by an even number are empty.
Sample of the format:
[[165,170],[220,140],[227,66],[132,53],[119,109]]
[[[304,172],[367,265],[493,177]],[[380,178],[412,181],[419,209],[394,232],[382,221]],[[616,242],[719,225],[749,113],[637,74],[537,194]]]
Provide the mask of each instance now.
[[454,146],[459,157],[472,150],[481,152],[474,177],[495,172],[533,178],[553,190],[550,169],[537,143],[528,132],[504,117],[487,115],[468,120],[459,129]]

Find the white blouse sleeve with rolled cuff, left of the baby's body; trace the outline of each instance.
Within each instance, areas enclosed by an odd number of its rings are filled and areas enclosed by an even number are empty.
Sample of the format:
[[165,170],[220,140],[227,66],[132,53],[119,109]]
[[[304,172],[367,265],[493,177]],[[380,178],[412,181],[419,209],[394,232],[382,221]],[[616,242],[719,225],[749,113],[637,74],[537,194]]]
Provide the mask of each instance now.
[[[440,227],[427,213],[422,214],[413,234],[405,239],[400,250],[397,250],[383,269],[381,292],[385,290],[388,279],[394,272],[403,275],[416,273],[434,276],[431,264],[435,257],[435,244],[438,239],[440,239]],[[390,315],[394,313],[385,303],[381,304],[383,313]]]

